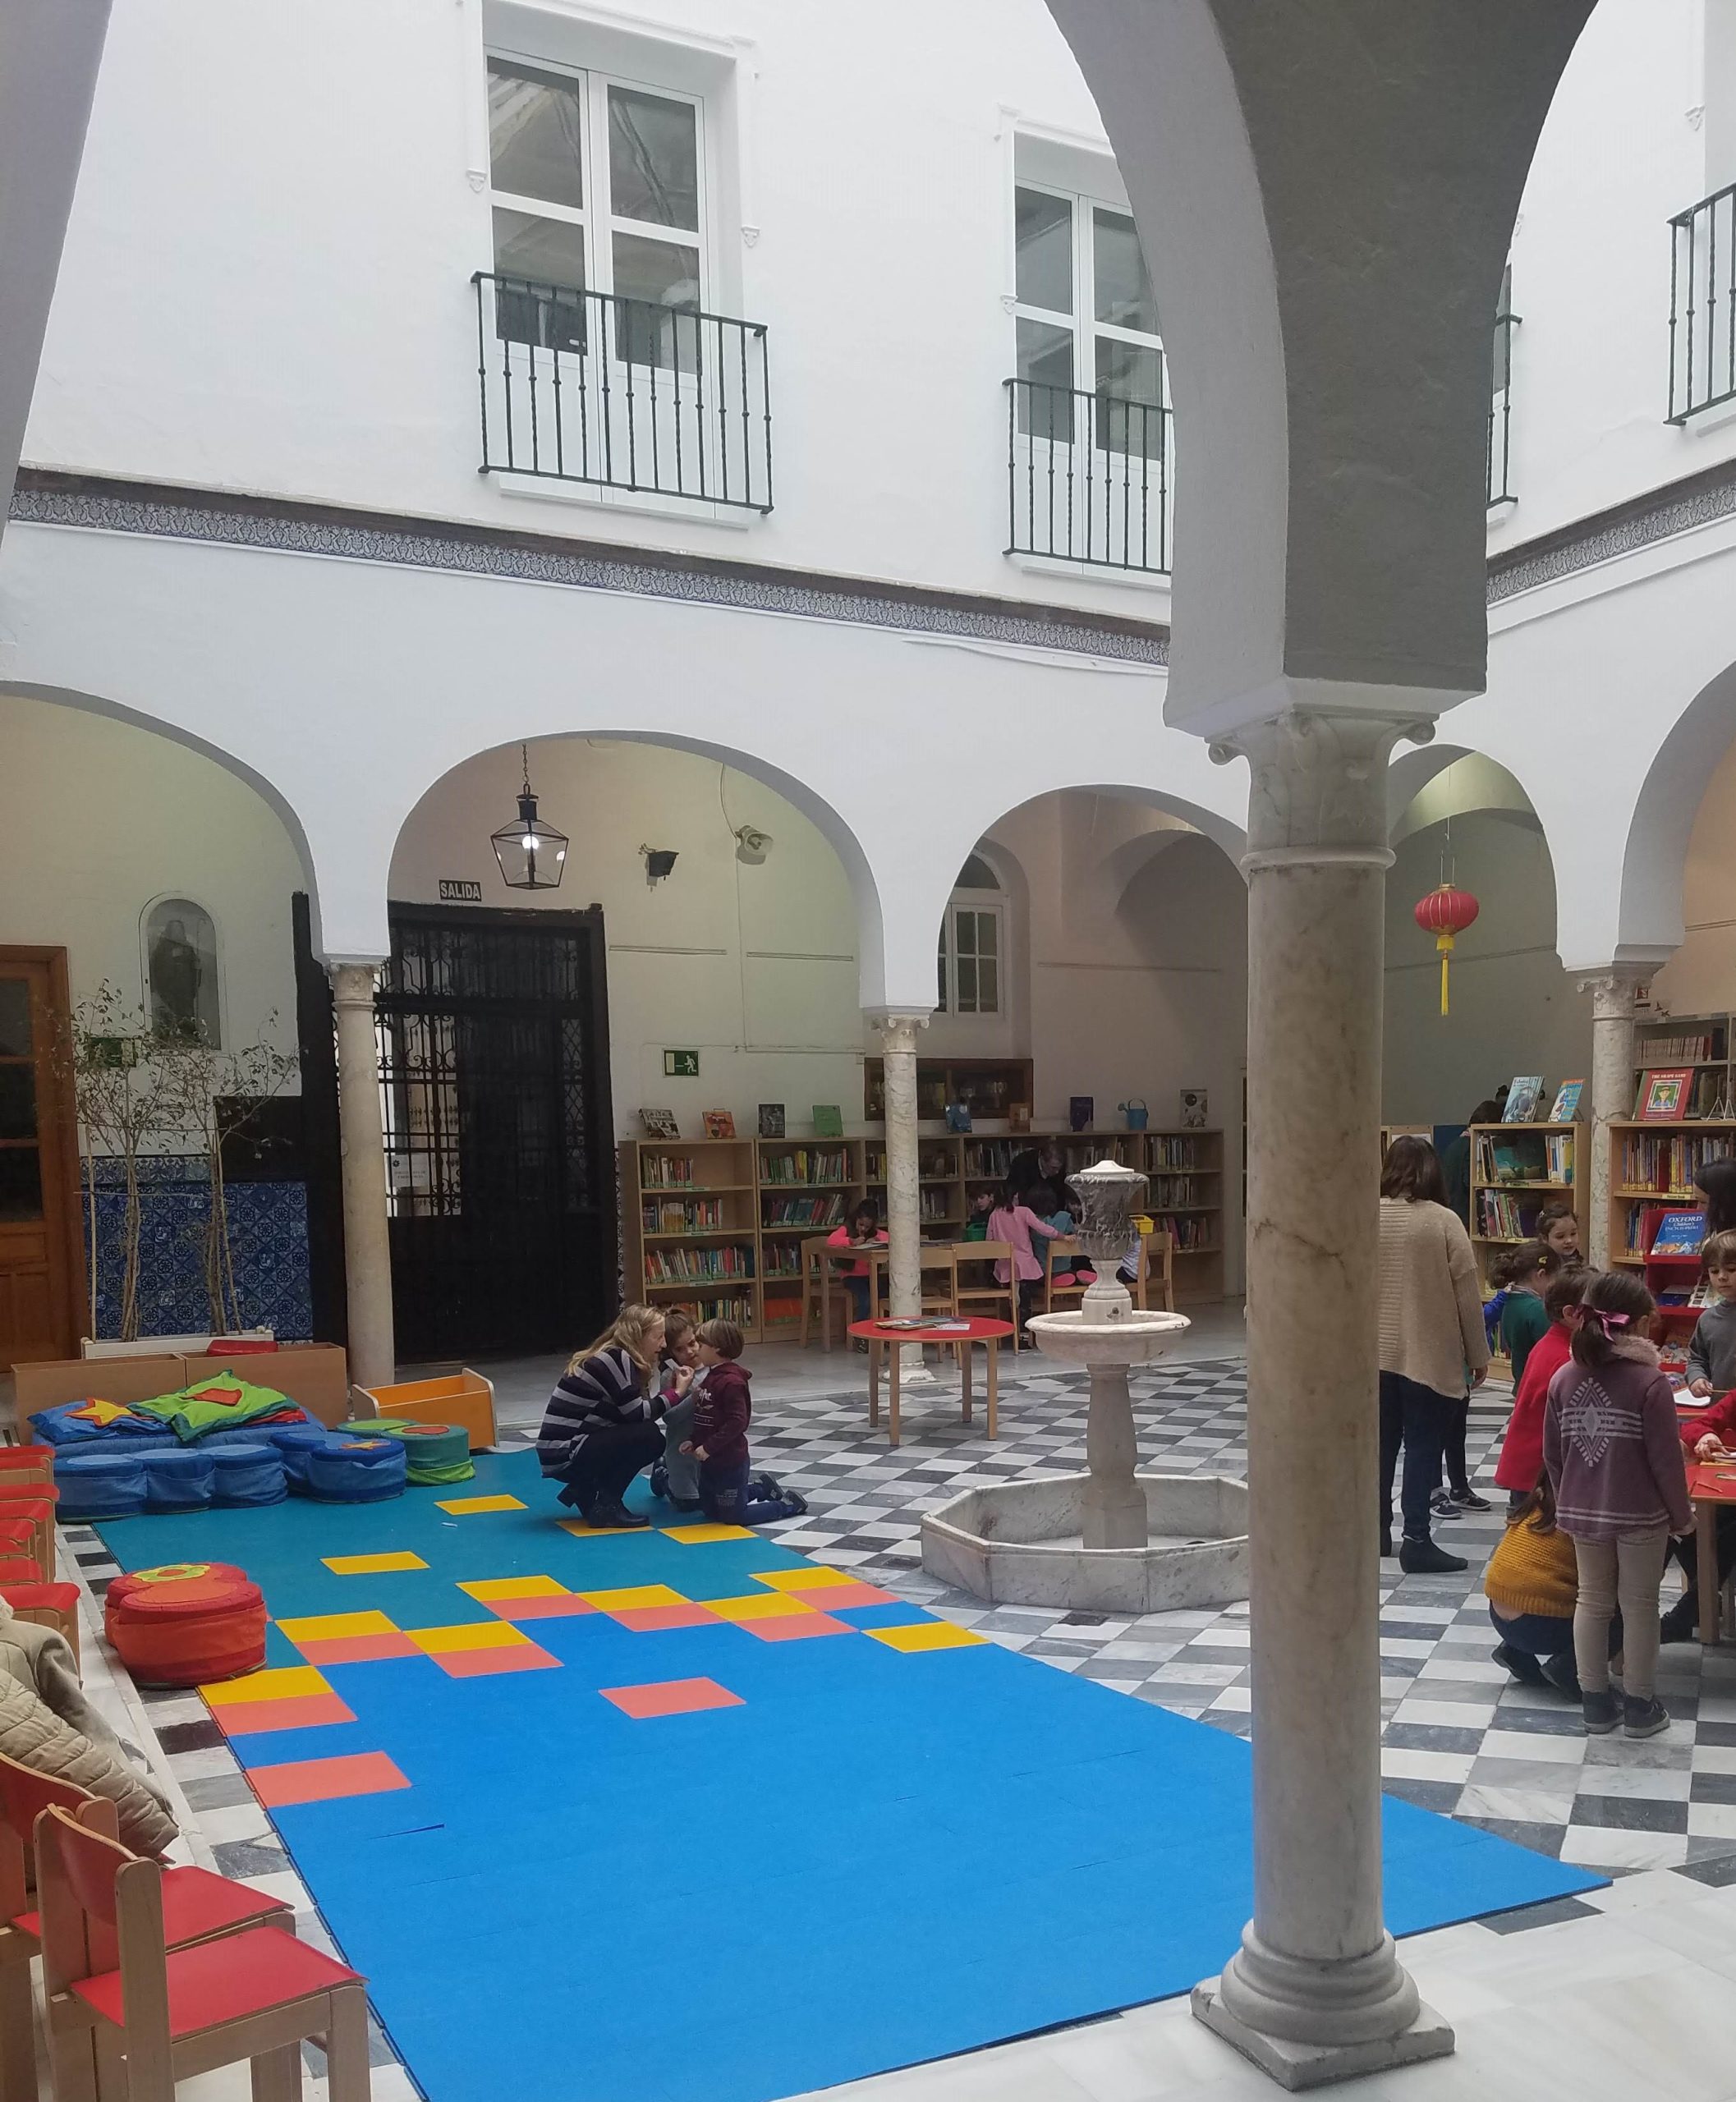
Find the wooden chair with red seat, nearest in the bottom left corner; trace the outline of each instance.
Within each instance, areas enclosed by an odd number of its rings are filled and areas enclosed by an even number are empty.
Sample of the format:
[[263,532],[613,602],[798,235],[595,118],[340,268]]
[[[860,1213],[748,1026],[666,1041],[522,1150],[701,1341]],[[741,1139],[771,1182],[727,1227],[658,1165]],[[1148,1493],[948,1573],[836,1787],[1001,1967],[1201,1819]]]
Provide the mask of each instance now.
[[307,2037],[326,2047],[330,2102],[366,2102],[357,1972],[275,1925],[170,1946],[158,1862],[65,1810],[38,1818],[36,1862],[57,2102],[174,2102],[179,2079],[244,2060],[254,2102],[290,2102]]

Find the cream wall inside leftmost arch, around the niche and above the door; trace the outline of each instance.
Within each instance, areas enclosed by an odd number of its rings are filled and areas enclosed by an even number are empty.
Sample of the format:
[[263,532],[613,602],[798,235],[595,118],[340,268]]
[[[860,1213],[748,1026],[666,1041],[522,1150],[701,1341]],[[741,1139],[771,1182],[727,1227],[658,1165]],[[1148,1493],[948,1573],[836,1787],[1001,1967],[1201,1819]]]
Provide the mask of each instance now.
[[0,692],[0,944],[65,948],[74,1005],[107,980],[143,1007],[139,916],[191,898],[216,923],[223,1040],[296,1049],[282,820],[200,753]]

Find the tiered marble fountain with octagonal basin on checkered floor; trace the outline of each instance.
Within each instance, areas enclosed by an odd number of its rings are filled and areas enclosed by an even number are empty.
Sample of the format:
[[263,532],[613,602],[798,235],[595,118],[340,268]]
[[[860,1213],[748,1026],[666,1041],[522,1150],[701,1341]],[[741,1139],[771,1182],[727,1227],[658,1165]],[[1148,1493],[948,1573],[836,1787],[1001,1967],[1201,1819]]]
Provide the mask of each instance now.
[[1030,1335],[1091,1373],[1084,1474],[967,1488],[923,1520],[923,1568],[998,1606],[1164,1612],[1248,1595],[1248,1490],[1211,1474],[1141,1474],[1129,1373],[1187,1328],[1141,1314],[1116,1263],[1133,1242],[1145,1177],[1099,1160],[1068,1177],[1097,1282],[1074,1314],[1036,1314]]

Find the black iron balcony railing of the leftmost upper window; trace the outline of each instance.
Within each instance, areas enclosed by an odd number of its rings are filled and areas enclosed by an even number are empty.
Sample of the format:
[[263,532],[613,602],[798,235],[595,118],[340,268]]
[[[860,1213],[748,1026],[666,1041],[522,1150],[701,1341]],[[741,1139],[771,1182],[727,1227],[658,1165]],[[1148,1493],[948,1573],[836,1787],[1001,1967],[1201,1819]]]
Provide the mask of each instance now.
[[771,509],[765,328],[477,271],[481,471]]

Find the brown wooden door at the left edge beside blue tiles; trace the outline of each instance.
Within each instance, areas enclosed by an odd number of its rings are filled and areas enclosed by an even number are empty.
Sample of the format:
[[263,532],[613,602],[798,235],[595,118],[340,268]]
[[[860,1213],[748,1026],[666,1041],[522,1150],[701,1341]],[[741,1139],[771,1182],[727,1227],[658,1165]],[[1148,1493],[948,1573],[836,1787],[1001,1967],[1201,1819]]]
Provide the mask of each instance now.
[[0,948],[0,1366],[71,1358],[84,1305],[67,952]]

